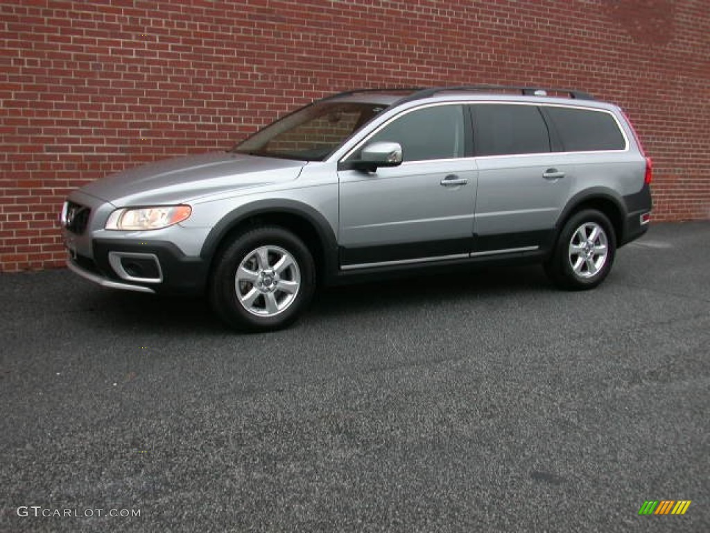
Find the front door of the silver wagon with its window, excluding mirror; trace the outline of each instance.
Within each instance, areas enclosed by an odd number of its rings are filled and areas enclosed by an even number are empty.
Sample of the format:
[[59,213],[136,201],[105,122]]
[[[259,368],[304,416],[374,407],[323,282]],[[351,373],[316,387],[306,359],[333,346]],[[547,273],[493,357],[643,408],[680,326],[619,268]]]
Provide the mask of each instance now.
[[477,173],[465,112],[461,104],[405,112],[363,143],[398,142],[400,166],[339,171],[343,269],[468,257]]

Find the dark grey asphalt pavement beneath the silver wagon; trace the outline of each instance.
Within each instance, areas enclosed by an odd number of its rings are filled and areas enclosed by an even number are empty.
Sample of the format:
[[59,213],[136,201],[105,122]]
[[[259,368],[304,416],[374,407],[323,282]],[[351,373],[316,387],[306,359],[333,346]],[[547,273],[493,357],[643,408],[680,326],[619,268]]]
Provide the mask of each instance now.
[[0,531],[709,531],[709,266],[710,223],[655,225],[594,291],[363,284],[264,335],[2,274]]

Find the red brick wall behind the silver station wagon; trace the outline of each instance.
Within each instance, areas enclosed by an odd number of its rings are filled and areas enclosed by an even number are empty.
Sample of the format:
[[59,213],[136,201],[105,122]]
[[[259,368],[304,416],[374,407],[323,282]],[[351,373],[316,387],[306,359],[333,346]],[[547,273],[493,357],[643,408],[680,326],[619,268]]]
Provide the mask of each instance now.
[[655,220],[710,217],[707,0],[0,1],[0,269],[58,266],[72,188],[226,149],[354,87],[577,87],[626,109]]

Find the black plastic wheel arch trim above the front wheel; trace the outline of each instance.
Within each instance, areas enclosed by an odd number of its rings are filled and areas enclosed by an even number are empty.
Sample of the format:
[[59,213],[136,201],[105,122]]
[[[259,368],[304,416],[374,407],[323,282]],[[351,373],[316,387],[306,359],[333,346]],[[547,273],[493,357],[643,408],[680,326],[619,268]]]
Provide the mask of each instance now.
[[253,227],[277,225],[293,232],[313,254],[317,279],[327,282],[337,271],[337,239],[322,213],[295,200],[258,200],[219,220],[202,244],[200,257],[212,271],[214,258],[237,235]]

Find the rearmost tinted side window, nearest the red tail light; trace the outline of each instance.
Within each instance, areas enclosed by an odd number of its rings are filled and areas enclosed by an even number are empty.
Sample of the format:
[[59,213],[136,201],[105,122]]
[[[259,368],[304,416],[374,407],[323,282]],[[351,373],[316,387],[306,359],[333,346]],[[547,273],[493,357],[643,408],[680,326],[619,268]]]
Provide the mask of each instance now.
[[562,149],[567,152],[624,150],[626,139],[616,120],[603,111],[545,107]]

